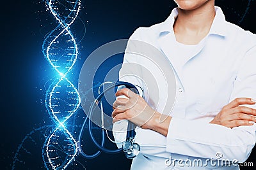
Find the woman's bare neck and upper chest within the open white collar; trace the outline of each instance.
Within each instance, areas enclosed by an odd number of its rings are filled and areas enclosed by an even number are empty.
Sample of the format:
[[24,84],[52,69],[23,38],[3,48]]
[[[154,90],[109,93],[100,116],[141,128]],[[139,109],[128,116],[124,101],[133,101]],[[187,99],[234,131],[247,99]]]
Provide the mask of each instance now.
[[214,1],[207,1],[194,10],[178,8],[179,15],[173,29],[177,41],[183,44],[198,44],[211,29],[215,17]]

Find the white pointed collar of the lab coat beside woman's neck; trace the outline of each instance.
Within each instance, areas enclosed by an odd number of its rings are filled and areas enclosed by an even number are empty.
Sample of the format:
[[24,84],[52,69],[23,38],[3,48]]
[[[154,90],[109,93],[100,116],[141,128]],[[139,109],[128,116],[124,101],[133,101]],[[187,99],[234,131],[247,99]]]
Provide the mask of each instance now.
[[[227,27],[225,26],[226,24],[225,15],[223,14],[223,11],[221,10],[221,8],[218,6],[215,6],[215,11],[216,11],[216,15],[212,22],[209,34],[226,36]],[[159,28],[159,36],[163,35],[164,33],[174,34],[173,24],[178,14],[179,14],[178,8],[174,8],[170,16],[161,24],[161,27]]]

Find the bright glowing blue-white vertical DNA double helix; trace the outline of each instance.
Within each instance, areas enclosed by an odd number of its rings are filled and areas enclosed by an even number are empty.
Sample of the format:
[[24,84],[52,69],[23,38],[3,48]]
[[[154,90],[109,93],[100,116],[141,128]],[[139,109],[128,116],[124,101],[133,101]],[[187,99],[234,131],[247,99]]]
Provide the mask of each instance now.
[[45,139],[42,156],[47,169],[65,169],[74,160],[77,141],[67,129],[68,119],[76,113],[81,98],[67,78],[76,63],[78,49],[70,25],[81,9],[80,0],[46,0],[47,10],[58,21],[58,26],[45,36],[42,45],[45,59],[58,73],[46,92],[45,106],[55,129]]

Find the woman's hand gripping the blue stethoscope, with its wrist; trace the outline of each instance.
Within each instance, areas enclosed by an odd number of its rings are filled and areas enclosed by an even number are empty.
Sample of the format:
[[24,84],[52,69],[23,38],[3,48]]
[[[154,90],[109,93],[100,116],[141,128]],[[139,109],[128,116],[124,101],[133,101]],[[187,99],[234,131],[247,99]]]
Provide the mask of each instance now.
[[113,104],[113,123],[118,120],[129,120],[143,129],[152,129],[164,136],[167,135],[172,117],[160,122],[161,113],[152,109],[142,97],[127,88],[118,90],[116,96],[127,98],[119,97]]

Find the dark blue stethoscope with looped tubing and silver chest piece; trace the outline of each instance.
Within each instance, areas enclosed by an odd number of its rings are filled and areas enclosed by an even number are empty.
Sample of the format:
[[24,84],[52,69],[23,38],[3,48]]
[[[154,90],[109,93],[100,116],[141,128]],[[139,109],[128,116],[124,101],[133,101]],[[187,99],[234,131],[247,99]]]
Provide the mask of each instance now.
[[[133,124],[132,122],[128,121],[128,125],[127,125],[127,132],[126,132],[126,140],[122,143],[122,148],[116,149],[116,150],[109,150],[107,148],[104,148],[104,144],[105,144],[105,131],[106,134],[108,136],[108,131],[104,128],[104,118],[103,118],[103,106],[102,106],[102,102],[101,99],[104,96],[104,93],[107,92],[108,90],[115,88],[115,87],[120,87],[120,86],[125,86],[126,88],[132,90],[132,92],[139,94],[138,89],[136,88],[135,85],[132,85],[131,83],[127,83],[124,81],[116,81],[115,83],[109,83],[109,86],[106,87],[104,90],[102,90],[102,92],[99,91],[99,95],[96,97],[96,99],[94,100],[94,102],[91,104],[89,112],[88,112],[88,117],[86,117],[86,119],[84,120],[84,123],[81,127],[81,131],[79,133],[79,150],[81,155],[83,155],[83,157],[85,157],[86,159],[93,159],[97,156],[100,155],[101,152],[105,152],[105,153],[120,153],[122,151],[124,151],[125,157],[127,157],[127,159],[133,159],[134,157],[136,157],[139,153],[140,153],[140,145],[138,145],[138,143],[135,143],[135,134],[136,132],[134,131],[136,125]],[[93,106],[97,105],[100,103],[100,110],[102,112],[101,118],[102,118],[102,141],[99,144],[96,139],[93,136],[93,132],[92,132],[92,112],[93,112]],[[83,136],[83,132],[84,132],[84,127],[86,125],[86,123],[88,122],[88,131],[90,134],[90,138],[92,139],[93,143],[97,146],[97,148],[99,148],[99,151],[93,153],[92,155],[88,155],[86,153],[83,152],[83,149],[81,148],[81,138]],[[109,137],[108,137],[109,138]]]

